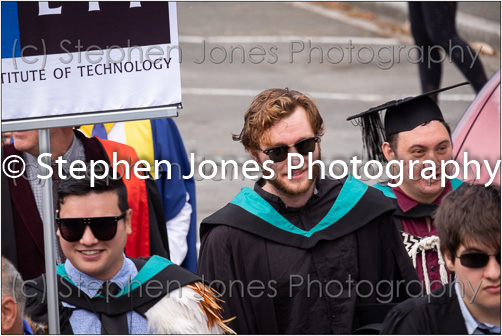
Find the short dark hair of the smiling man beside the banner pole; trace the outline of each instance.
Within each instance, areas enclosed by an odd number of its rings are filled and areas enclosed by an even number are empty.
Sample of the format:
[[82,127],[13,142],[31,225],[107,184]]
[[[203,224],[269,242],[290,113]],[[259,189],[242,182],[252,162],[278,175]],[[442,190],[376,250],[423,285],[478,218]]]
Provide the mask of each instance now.
[[[102,172],[95,169],[96,175],[102,176]],[[104,192],[115,192],[119,197],[118,207],[124,212],[129,209],[127,202],[127,188],[122,179],[114,179],[111,175],[102,179],[94,178],[94,186],[91,187],[91,174],[86,171],[83,179],[68,178],[61,182],[58,189],[58,209],[64,204],[66,196],[83,196],[91,192],[101,194]]]

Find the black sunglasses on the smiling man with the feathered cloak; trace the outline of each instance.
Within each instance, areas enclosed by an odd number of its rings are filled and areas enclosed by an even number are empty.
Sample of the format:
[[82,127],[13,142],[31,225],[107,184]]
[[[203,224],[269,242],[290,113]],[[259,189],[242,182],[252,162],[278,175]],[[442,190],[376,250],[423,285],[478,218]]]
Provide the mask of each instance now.
[[124,211],[120,216],[92,217],[92,218],[59,218],[56,214],[56,223],[64,240],[69,242],[79,241],[84,235],[85,227],[90,226],[92,234],[98,240],[111,240],[117,233],[117,223],[126,215]]

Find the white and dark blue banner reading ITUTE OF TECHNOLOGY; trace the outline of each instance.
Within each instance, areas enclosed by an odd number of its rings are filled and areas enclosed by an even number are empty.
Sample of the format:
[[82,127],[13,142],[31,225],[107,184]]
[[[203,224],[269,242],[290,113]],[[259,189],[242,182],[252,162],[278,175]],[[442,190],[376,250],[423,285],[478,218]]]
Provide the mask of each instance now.
[[175,3],[3,2],[2,12],[3,121],[181,103]]

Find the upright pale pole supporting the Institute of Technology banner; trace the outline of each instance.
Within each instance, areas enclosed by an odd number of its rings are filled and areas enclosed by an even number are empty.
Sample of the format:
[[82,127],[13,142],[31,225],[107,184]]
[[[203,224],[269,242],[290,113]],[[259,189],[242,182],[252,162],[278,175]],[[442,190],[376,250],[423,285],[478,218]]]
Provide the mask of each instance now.
[[[49,129],[41,129],[38,131],[39,153],[50,153],[50,132]],[[50,156],[44,157],[44,163],[51,164]],[[47,169],[43,175],[47,175]],[[53,174],[57,172],[53,172]],[[58,293],[56,281],[56,249],[54,228],[54,207],[52,194],[52,179],[48,178],[42,183],[42,222],[44,225],[44,252],[45,252],[45,273],[47,279],[47,309],[49,334],[59,334],[59,310],[58,310]]]

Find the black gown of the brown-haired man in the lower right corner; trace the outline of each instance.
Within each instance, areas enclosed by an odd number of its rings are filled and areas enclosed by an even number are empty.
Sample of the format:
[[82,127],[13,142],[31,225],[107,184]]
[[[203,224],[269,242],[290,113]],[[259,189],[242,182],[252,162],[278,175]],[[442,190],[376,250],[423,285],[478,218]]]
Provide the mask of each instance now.
[[434,290],[431,295],[409,299],[392,309],[382,334],[466,335],[455,282]]

